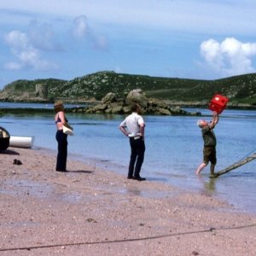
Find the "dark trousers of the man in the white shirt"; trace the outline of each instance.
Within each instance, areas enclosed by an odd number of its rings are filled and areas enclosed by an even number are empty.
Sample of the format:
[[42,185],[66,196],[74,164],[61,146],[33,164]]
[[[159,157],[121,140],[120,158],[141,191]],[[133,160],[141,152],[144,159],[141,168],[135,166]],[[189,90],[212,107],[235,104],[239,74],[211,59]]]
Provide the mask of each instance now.
[[[135,139],[130,138],[131,159],[129,165],[128,177],[140,177],[141,168],[143,166],[145,143],[143,137]],[[134,168],[135,166],[135,168]]]

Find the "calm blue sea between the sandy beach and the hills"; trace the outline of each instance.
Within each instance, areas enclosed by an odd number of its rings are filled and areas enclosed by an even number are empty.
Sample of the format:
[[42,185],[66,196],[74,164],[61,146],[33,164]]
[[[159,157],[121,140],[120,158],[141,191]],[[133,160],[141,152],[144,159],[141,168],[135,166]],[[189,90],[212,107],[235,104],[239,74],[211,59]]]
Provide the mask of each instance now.
[[[75,107],[73,105],[65,106]],[[0,102],[0,108],[49,108],[52,104]],[[237,211],[256,213],[256,160],[218,178],[209,177],[207,166],[198,177],[203,141],[198,119],[212,119],[209,109],[184,108],[201,116],[143,116],[146,152],[141,175],[147,180],[169,183],[228,201]],[[3,114],[0,126],[11,136],[34,136],[34,148],[57,152],[52,113]],[[129,140],[119,131],[121,114],[67,113],[74,136],[68,137],[68,158],[127,175]],[[256,153],[256,110],[225,109],[214,131],[218,140],[216,172]],[[0,154],[0,157],[3,155]],[[67,166],[68,167],[68,166]],[[54,167],[53,167],[54,170]]]

